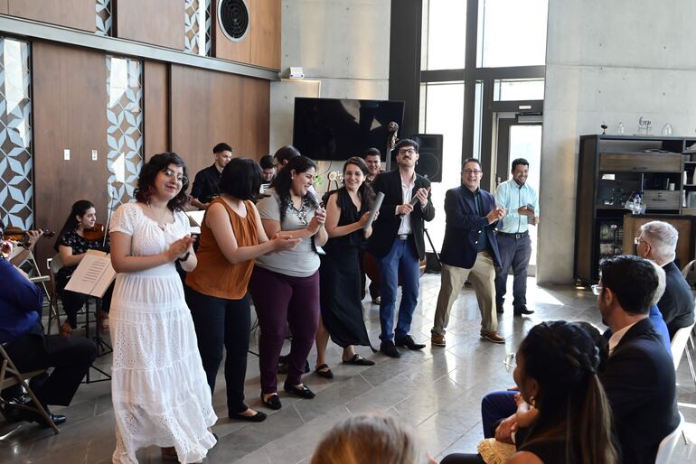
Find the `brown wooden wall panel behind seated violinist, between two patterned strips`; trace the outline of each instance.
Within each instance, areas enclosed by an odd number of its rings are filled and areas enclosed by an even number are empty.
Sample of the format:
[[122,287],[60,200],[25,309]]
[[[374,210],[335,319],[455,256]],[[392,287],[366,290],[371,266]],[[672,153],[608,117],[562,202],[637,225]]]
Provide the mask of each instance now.
[[[33,147],[36,225],[58,229],[76,200],[107,211],[107,66],[98,51],[33,42]],[[63,160],[63,149],[71,160]],[[98,150],[99,159],[91,160]],[[39,257],[52,255],[42,240]]]

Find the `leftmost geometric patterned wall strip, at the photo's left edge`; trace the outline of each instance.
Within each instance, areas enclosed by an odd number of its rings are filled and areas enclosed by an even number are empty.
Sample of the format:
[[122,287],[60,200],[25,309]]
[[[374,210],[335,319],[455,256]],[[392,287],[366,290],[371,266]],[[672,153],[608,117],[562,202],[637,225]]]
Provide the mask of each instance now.
[[29,43],[0,37],[0,218],[33,227]]

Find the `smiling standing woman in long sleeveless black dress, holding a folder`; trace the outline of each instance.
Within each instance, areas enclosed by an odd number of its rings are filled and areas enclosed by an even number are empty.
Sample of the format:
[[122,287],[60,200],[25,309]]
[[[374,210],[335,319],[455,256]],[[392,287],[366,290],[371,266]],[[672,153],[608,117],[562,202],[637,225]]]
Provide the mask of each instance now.
[[316,333],[315,367],[316,375],[325,378],[334,376],[326,364],[329,337],[343,348],[343,364],[374,364],[353,350],[353,345],[372,348],[362,319],[358,257],[372,234],[372,227],[364,228],[374,200],[372,187],[365,182],[367,173],[367,164],[353,156],[343,164],[343,187],[331,192],[326,201],[329,240],[319,268],[322,317]]

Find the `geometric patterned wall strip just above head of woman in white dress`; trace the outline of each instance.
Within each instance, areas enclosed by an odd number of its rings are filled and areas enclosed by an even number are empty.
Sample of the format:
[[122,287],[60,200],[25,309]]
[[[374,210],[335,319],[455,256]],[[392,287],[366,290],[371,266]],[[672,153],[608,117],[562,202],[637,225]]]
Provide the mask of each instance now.
[[135,198],[143,166],[143,63],[107,56],[110,208]]

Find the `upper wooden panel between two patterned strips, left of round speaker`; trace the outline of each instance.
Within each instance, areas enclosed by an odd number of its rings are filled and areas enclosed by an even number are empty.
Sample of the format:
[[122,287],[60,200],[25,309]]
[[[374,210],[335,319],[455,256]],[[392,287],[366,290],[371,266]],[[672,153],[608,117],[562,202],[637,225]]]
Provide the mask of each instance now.
[[122,39],[183,50],[183,0],[118,0],[116,33]]

